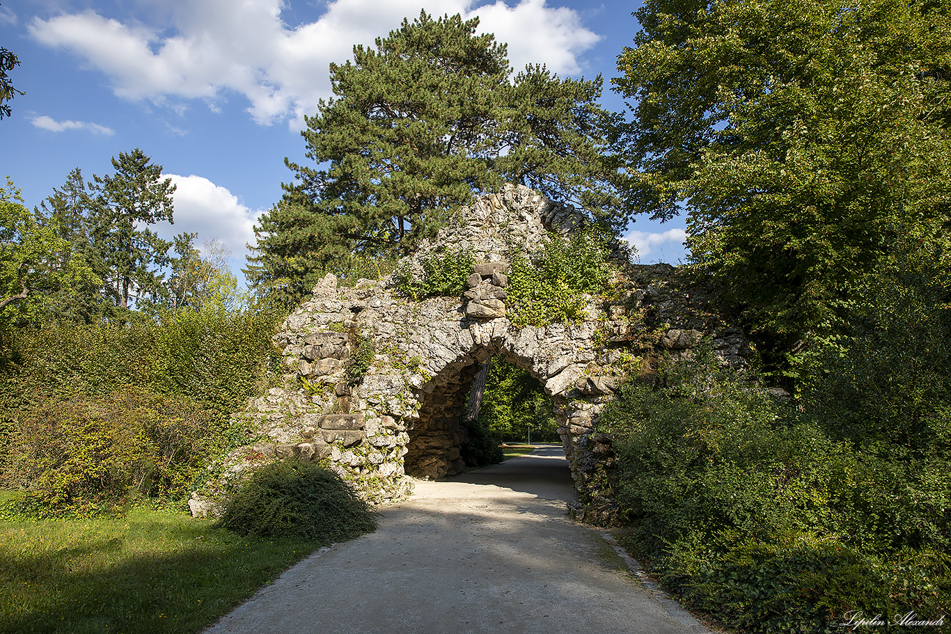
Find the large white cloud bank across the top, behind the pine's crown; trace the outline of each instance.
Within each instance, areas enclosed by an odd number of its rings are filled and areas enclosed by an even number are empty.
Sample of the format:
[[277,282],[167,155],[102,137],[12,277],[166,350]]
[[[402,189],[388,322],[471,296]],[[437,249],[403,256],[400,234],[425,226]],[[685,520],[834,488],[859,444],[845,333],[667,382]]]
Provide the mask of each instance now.
[[234,92],[247,99],[258,123],[289,119],[295,127],[330,96],[330,62],[347,59],[354,44],[372,45],[420,9],[479,16],[481,30],[508,42],[515,69],[545,63],[559,74],[578,73],[579,55],[598,39],[574,10],[549,7],[546,0],[481,6],[478,0],[331,0],[319,19],[294,27],[281,19],[288,0],[141,0],[140,5],[153,24],[120,22],[87,10],[34,18],[29,34],[105,73],[120,97],[156,104],[201,99],[215,108]]

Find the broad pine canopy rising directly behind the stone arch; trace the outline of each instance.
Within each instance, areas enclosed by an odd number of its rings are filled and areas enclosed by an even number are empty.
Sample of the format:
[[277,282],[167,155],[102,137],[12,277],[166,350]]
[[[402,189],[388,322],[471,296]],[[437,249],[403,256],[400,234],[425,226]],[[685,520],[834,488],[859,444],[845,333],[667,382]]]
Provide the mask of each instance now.
[[506,46],[477,27],[423,11],[330,66],[336,97],[301,132],[316,164],[285,160],[295,181],[256,227],[256,286],[307,290],[353,254],[405,254],[453,207],[504,181],[624,223],[609,212],[621,176],[617,115],[595,103],[601,78],[527,67],[510,81]]

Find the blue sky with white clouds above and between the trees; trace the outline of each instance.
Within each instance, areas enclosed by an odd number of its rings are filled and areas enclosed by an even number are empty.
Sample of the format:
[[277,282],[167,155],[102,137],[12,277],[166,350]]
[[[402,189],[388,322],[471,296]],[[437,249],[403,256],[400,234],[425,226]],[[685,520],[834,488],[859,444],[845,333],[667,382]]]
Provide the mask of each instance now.
[[[579,0],[3,0],[0,46],[26,92],[0,122],[0,177],[30,206],[80,167],[87,181],[140,147],[178,186],[175,224],[221,240],[243,265],[258,215],[305,161],[303,115],[330,95],[327,66],[372,45],[419,10],[478,15],[507,42],[517,70],[544,63],[606,88],[638,29],[639,2]],[[623,101],[610,89],[605,107]],[[684,222],[641,217],[630,227],[641,261],[685,259]]]

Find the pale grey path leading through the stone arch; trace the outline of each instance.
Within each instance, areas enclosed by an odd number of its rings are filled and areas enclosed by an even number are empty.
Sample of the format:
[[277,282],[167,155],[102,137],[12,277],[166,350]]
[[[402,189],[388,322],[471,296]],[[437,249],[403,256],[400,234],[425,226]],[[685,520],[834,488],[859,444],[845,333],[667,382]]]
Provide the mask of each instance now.
[[573,495],[555,446],[417,482],[376,532],[321,548],[206,634],[709,632],[568,518]]

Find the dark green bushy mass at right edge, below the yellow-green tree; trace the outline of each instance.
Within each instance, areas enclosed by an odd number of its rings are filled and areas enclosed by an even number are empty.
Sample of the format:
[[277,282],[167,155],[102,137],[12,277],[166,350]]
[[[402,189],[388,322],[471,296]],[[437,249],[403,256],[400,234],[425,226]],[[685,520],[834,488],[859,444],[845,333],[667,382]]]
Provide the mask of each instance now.
[[951,458],[951,283],[944,251],[907,240],[864,276],[840,337],[817,341],[803,402],[831,437]]

